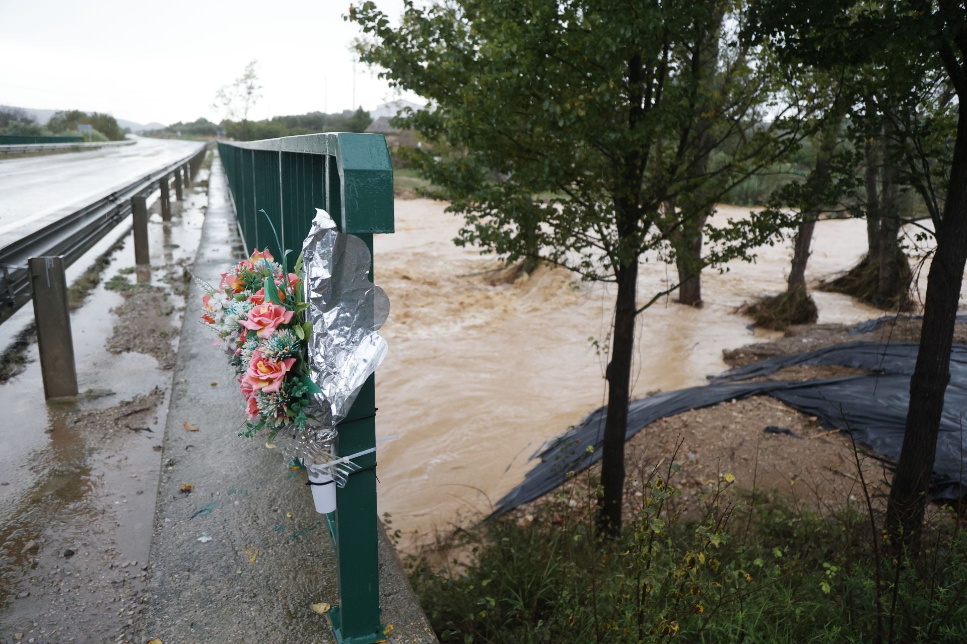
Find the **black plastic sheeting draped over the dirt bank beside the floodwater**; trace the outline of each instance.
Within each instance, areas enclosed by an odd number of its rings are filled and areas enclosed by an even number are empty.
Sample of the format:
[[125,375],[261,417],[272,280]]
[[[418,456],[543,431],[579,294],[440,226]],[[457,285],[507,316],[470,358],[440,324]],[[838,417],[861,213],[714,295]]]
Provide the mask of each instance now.
[[[649,396],[630,403],[625,439],[649,424],[689,409],[718,405],[728,400],[768,395],[787,406],[816,416],[823,427],[851,432],[857,442],[882,455],[886,462],[899,458],[910,398],[910,375],[917,361],[914,343],[854,342],[825,349],[783,355],[737,367],[713,378],[705,386],[689,387]],[[747,382],[795,365],[840,365],[875,373],[846,378],[790,382]],[[494,515],[531,501],[601,459],[605,407],[568,432],[545,443],[530,460],[540,459],[523,482],[497,502]],[[967,346],[954,345],[951,383],[944,399],[934,477],[934,498],[955,499],[967,485],[967,454],[963,416],[967,413]],[[589,449],[590,446],[590,449]]]

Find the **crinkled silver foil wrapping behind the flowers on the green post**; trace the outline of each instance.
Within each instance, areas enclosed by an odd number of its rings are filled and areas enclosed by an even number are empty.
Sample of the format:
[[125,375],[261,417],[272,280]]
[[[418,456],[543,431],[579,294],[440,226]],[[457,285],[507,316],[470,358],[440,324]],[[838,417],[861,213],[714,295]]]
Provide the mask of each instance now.
[[[386,357],[386,340],[378,331],[390,315],[390,298],[369,281],[369,266],[366,242],[340,233],[333,218],[316,209],[303,243],[303,284],[312,324],[308,360],[312,380],[322,390],[312,409],[318,424],[307,425],[301,434],[284,433],[307,464],[335,458],[337,424]],[[345,479],[334,474],[344,485]]]

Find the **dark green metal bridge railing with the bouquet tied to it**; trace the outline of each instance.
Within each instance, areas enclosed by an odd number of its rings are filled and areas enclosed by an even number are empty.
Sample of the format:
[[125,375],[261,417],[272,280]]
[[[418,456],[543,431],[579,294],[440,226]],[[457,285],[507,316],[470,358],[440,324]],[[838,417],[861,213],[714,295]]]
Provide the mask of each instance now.
[[[343,233],[366,242],[393,233],[393,167],[380,134],[325,133],[246,143],[219,143],[246,249],[268,247],[281,257],[299,252],[316,208],[330,213]],[[265,210],[278,231],[278,248]],[[372,279],[370,270],[369,278]],[[339,424],[338,454],[375,446],[375,380],[366,380],[349,415]],[[364,468],[337,490],[337,510],[327,515],[336,545],[339,602],[329,611],[337,641],[370,644],[385,639],[380,622],[375,453],[354,459]]]

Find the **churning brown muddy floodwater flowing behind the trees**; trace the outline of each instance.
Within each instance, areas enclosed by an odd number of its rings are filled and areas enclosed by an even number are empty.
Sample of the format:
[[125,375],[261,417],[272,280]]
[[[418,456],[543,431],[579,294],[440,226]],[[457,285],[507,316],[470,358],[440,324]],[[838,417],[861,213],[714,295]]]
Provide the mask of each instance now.
[[[381,447],[379,502],[401,531],[403,550],[487,512],[520,481],[544,440],[605,400],[606,352],[598,346],[607,339],[613,288],[549,268],[501,281],[492,258],[454,246],[459,220],[444,207],[397,200],[396,234],[375,242],[376,282],[392,300],[377,432],[399,436]],[[721,207],[718,217],[747,211]],[[863,220],[819,222],[807,278],[853,266],[865,235]],[[669,297],[639,316],[633,396],[701,384],[726,368],[723,349],[777,337],[750,330],[735,309],[785,288],[791,248],[786,242],[756,253],[755,264],[704,273],[703,308]],[[644,264],[639,303],[666,288],[673,270]],[[884,315],[846,295],[813,297],[819,322]]]

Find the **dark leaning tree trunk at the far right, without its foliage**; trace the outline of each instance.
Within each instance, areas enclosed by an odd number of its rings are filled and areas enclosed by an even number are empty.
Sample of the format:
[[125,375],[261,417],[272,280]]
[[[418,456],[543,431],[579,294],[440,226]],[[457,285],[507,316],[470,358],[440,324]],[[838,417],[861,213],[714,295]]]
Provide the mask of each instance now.
[[950,192],[936,231],[937,249],[926,281],[920,352],[910,378],[903,447],[896,466],[887,530],[894,548],[916,553],[923,529],[926,491],[937,450],[944,394],[951,379],[953,326],[967,261],[967,105],[958,107]]

